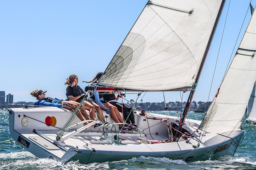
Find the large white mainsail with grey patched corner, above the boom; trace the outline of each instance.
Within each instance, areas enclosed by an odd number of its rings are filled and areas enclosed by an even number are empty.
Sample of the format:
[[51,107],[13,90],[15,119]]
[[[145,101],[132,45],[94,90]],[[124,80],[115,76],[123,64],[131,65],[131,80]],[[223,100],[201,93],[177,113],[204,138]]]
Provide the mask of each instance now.
[[162,91],[195,82],[220,0],[148,2],[99,84]]

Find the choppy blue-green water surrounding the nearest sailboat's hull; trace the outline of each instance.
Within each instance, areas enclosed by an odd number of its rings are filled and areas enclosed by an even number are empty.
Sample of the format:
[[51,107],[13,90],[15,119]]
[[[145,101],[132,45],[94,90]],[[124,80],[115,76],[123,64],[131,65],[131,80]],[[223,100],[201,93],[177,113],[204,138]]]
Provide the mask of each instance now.
[[[160,112],[160,114],[165,114]],[[168,112],[172,116],[179,113]],[[80,164],[71,161],[67,164],[52,159],[39,159],[18,145],[9,132],[7,110],[0,110],[0,169],[256,169],[256,126],[246,125],[245,137],[234,156],[226,156],[216,160],[186,163],[182,160],[167,158],[143,157],[130,160]],[[202,120],[203,113],[189,113],[188,118]]]

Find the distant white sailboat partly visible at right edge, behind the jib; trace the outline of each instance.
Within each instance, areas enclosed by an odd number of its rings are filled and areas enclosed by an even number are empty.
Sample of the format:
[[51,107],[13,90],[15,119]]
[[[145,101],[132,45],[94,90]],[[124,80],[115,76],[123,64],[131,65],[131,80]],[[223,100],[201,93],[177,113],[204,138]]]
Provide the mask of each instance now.
[[252,94],[250,96],[248,105],[247,105],[247,118],[245,119],[247,124],[256,125],[256,83],[254,83]]

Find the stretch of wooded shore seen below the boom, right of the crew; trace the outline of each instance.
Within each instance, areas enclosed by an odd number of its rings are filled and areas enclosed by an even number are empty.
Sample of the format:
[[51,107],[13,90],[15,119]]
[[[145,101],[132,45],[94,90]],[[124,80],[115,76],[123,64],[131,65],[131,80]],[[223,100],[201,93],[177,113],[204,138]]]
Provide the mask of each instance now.
[[[140,107],[143,110],[147,111],[164,111],[165,104],[164,102],[159,102],[159,103],[151,103],[151,102],[144,102],[140,101],[138,103],[134,103],[134,100],[130,100],[131,103],[135,104],[136,106]],[[131,107],[133,104],[129,102],[125,103],[130,105]],[[189,111],[196,111],[196,112],[205,112],[207,111],[208,107],[210,106],[212,102],[196,102],[193,101],[189,107]],[[169,111],[180,111],[181,110],[181,104],[182,104],[182,110],[185,108],[187,102],[169,102],[166,103],[166,107],[168,108]]]

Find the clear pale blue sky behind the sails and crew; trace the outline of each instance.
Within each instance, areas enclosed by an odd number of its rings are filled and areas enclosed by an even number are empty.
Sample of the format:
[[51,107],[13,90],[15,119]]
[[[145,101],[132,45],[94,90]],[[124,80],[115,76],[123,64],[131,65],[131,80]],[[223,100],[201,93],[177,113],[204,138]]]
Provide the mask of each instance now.
[[[209,101],[220,85],[249,2],[230,3]],[[47,96],[65,99],[64,82],[70,74],[77,74],[78,84],[84,88],[83,80],[91,80],[108,66],[146,3],[146,0],[0,0],[0,90],[12,93],[14,102],[36,101],[29,94],[34,89],[47,90]],[[208,53],[195,101],[207,101],[228,3]],[[256,0],[252,0],[253,7],[255,4]],[[248,11],[236,48],[250,17]],[[188,94],[185,93],[183,101],[187,101]],[[180,93],[165,92],[165,99],[180,101]],[[143,98],[144,102],[163,100],[162,92],[148,92]]]

